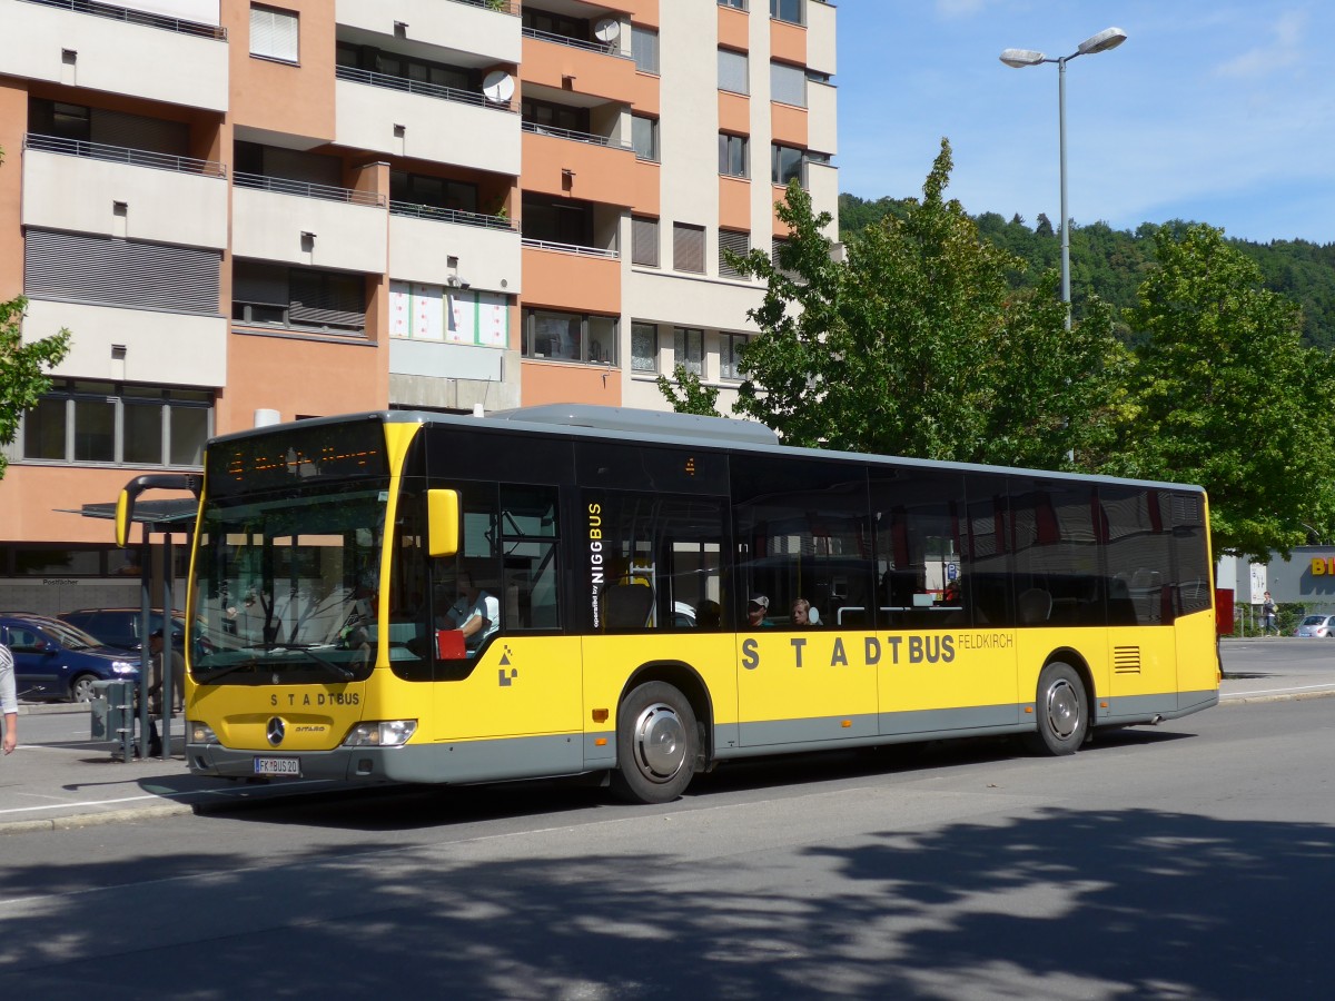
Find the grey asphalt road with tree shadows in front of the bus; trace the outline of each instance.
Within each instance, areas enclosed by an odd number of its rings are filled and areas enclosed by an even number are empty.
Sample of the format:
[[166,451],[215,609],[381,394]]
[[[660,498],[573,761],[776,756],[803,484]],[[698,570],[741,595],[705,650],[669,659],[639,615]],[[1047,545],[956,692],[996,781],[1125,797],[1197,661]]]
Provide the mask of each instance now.
[[530,783],[12,836],[0,994],[1324,997],[1332,723],[1260,698],[1060,759],[721,769],[663,807]]

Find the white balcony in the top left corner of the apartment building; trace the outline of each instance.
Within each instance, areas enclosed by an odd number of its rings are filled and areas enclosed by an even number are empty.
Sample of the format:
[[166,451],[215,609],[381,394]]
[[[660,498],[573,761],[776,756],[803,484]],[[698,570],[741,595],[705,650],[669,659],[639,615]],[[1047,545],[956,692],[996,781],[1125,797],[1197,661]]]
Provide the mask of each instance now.
[[[0,0],[0,75],[227,108],[227,32],[89,0]],[[134,53],[127,59],[127,53]]]

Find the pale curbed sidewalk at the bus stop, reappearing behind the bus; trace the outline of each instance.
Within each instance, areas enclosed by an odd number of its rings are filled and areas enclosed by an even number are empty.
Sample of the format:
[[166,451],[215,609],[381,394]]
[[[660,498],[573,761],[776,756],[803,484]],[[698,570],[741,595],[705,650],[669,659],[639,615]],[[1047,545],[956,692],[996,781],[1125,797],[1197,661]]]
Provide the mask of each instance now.
[[[1270,677],[1226,677],[1220,703],[1335,695],[1335,681],[1283,686]],[[112,758],[119,745],[89,739],[88,706],[20,705],[19,749],[0,757],[0,836],[242,809],[274,798],[347,789],[328,781],[246,783],[192,775],[183,722],[172,723],[170,761]]]

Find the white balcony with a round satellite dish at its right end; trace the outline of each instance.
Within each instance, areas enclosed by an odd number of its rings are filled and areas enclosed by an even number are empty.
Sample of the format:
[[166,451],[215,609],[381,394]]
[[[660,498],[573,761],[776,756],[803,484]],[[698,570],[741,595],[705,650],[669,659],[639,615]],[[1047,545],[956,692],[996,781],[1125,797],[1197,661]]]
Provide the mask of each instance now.
[[336,141],[494,174],[519,174],[519,116],[453,87],[338,67]]

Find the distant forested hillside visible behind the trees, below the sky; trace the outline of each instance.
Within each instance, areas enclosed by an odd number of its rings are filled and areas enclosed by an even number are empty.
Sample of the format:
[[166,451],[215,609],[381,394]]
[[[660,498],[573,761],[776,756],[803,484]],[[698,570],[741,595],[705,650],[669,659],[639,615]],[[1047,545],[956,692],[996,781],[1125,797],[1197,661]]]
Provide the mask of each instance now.
[[[902,218],[906,206],[900,199],[868,202],[856,195],[840,195],[838,202],[840,238],[844,240],[888,214]],[[988,240],[1029,262],[1027,275],[1012,275],[1013,284],[1032,283],[1043,271],[1061,267],[1061,239],[1045,215],[1032,226],[1020,216],[1008,222],[996,212],[973,219]],[[1184,230],[1187,223],[1173,220],[1164,226]],[[1159,228],[1152,223],[1143,223],[1135,232],[1113,230],[1104,223],[1071,227],[1071,298],[1077,314],[1091,292],[1117,307],[1119,314],[1136,304],[1136,288],[1153,260],[1153,235]],[[1267,288],[1302,306],[1306,343],[1335,348],[1335,243],[1238,239],[1228,239],[1228,243],[1256,262],[1266,275]],[[1133,336],[1132,331],[1125,332]]]

